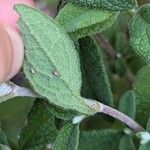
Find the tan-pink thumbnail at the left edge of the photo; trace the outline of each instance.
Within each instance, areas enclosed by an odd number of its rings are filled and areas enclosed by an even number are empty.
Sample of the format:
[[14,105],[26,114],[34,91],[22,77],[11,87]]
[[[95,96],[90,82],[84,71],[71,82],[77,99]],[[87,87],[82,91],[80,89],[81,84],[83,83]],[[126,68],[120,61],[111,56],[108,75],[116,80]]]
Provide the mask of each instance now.
[[0,25],[0,83],[4,82],[13,61],[12,42],[8,32]]

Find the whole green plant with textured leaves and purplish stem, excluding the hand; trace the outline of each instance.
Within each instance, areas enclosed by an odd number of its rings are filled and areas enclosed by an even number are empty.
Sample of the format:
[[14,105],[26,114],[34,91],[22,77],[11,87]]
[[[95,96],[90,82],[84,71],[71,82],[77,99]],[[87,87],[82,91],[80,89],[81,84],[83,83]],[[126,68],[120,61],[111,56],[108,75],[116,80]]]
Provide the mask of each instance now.
[[55,19],[15,10],[25,77],[0,85],[0,107],[26,108],[0,112],[1,149],[149,150],[150,4],[66,0]]

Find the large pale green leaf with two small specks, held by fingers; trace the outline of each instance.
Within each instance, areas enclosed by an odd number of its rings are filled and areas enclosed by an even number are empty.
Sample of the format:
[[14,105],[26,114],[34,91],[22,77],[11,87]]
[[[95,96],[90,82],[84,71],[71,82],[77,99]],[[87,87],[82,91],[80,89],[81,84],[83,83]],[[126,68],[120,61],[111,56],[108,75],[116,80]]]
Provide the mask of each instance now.
[[34,90],[64,109],[95,113],[80,96],[79,58],[69,36],[39,10],[25,5],[15,8],[21,15],[19,24],[26,47],[24,72]]

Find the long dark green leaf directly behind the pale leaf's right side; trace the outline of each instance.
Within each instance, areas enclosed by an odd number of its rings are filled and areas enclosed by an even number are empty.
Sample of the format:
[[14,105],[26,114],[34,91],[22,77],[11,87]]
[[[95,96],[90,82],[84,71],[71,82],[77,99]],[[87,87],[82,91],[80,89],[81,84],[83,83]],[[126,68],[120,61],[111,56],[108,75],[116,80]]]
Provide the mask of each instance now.
[[113,105],[113,95],[101,49],[90,37],[80,39],[79,44],[83,69],[96,100]]

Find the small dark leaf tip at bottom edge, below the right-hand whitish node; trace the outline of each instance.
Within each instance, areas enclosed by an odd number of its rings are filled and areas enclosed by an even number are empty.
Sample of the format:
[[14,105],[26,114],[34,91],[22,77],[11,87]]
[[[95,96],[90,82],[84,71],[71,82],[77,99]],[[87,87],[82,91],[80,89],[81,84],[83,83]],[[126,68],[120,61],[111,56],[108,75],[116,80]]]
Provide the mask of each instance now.
[[136,150],[136,147],[130,135],[124,135],[121,138],[119,144],[119,150]]

